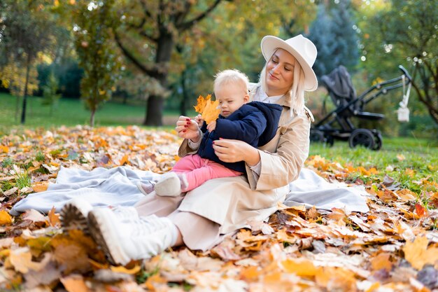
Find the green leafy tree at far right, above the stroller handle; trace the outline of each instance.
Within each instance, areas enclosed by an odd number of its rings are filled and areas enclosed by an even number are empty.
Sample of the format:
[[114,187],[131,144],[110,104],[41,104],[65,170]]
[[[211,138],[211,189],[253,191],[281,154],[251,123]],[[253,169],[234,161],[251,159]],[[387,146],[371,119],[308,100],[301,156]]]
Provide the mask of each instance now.
[[414,92],[437,127],[437,5],[433,1],[390,1],[368,12],[363,12],[367,20],[362,29],[365,68],[378,78],[395,74],[399,64],[407,67],[414,77]]

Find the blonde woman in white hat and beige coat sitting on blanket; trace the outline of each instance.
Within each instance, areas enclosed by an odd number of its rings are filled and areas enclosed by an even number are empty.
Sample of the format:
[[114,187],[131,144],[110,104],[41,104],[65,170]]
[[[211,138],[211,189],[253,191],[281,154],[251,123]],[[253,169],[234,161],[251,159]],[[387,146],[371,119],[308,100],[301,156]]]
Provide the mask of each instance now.
[[[288,183],[299,176],[309,154],[309,131],[313,120],[304,107],[304,90],[316,90],[311,69],[316,47],[299,35],[283,41],[265,36],[261,42],[267,60],[260,82],[253,84],[254,101],[283,106],[276,136],[253,148],[243,141],[220,139],[214,150],[224,162],[244,161],[246,175],[213,179],[185,196],[145,196],[134,207],[94,208],[73,201],[62,211],[64,225],[84,218],[92,236],[114,263],[149,258],[170,246],[210,249],[222,235],[266,220],[288,193]],[[195,121],[181,116],[176,132],[184,138],[178,155],[196,153],[202,133]]]

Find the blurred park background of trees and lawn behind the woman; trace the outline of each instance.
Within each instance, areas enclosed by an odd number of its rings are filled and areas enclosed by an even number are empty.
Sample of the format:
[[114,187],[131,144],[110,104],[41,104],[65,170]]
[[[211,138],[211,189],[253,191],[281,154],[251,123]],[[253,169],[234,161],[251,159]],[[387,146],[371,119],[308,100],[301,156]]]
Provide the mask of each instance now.
[[[358,93],[413,76],[409,123],[402,90],[367,106],[386,137],[438,137],[434,1],[278,0],[0,1],[0,134],[17,125],[173,125],[194,115],[213,76],[239,69],[257,81],[262,36],[304,34],[318,78],[344,65]],[[320,86],[306,94],[316,120],[333,109]]]

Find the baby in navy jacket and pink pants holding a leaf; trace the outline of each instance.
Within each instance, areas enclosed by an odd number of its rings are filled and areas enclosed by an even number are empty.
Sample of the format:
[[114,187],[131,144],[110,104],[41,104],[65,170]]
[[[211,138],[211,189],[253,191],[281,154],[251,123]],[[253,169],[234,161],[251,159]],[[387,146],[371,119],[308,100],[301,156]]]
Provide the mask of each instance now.
[[220,116],[206,125],[200,115],[195,118],[204,136],[197,154],[186,155],[176,162],[171,172],[153,183],[139,182],[141,193],[176,197],[202,185],[209,179],[240,176],[246,172],[245,162],[222,162],[214,153],[217,139],[238,139],[257,148],[267,144],[276,134],[283,106],[249,102],[248,77],[235,69],[216,74],[213,90],[220,106]]

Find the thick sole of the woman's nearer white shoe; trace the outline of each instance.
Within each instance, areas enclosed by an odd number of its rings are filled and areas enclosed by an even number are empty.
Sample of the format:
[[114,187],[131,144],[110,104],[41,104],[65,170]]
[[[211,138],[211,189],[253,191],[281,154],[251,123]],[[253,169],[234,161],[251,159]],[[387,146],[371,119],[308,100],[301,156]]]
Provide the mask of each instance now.
[[107,211],[111,212],[110,209],[101,209],[98,212],[90,211],[88,214],[90,234],[94,241],[104,250],[104,253],[111,263],[126,265],[131,259],[120,249],[120,246],[114,244],[118,239],[113,228],[108,228],[108,226],[106,226],[109,222],[107,219],[108,216],[105,216]]

